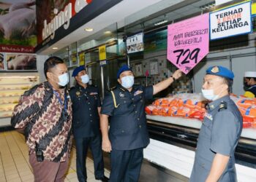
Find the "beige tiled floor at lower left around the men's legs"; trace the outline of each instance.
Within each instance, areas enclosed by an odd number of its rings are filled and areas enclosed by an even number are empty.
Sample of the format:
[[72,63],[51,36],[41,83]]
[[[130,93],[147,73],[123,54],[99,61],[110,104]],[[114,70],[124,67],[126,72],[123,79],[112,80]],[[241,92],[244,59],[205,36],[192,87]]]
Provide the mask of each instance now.
[[[91,159],[86,161],[88,182],[97,182],[94,179],[94,165]],[[109,171],[105,170],[109,176]],[[31,166],[29,165],[28,149],[23,135],[16,131],[0,132],[0,182],[34,181]],[[75,149],[65,181],[78,181],[75,167]]]

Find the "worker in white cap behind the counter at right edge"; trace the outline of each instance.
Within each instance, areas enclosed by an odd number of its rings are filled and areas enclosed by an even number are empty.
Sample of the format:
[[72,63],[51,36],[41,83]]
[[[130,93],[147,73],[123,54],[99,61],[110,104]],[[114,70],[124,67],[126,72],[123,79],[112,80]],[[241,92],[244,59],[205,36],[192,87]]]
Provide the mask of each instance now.
[[244,96],[247,98],[256,98],[256,71],[246,71],[244,73],[244,84],[246,87]]

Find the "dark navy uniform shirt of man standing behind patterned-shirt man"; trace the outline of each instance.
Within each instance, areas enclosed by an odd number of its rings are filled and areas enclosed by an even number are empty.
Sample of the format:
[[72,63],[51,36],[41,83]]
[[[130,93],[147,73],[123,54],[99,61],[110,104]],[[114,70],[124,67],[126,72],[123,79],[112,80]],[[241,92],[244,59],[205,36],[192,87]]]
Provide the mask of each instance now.
[[70,90],[73,111],[73,134],[75,138],[99,135],[99,113],[101,106],[97,87],[81,87],[77,84]]

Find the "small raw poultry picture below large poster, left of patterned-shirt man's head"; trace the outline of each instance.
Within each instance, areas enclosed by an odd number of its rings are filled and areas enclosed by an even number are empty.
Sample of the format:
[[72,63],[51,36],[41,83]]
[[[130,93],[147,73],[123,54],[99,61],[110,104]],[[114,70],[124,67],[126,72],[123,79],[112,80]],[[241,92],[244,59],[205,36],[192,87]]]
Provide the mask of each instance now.
[[7,70],[37,70],[37,55],[7,53]]

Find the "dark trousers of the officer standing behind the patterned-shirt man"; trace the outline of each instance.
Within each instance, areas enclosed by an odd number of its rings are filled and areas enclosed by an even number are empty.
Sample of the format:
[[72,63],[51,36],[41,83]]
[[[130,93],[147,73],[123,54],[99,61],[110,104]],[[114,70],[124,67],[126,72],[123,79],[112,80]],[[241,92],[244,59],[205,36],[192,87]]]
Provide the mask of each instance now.
[[102,157],[102,138],[101,135],[89,138],[75,138],[76,146],[76,166],[79,182],[85,182],[87,179],[86,173],[86,157],[90,147],[92,157],[94,158],[94,176],[95,178],[103,178],[104,162]]

